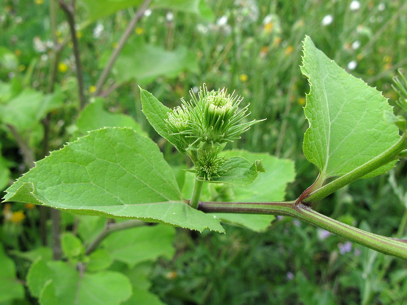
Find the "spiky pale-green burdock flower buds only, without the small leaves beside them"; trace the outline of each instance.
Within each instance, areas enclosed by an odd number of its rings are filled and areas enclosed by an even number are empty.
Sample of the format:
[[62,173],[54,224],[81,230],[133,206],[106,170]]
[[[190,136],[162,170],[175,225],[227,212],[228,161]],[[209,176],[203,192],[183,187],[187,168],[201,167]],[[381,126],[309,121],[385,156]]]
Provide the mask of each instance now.
[[[250,126],[260,122],[242,122],[250,113],[247,106],[239,109],[242,97],[228,94],[227,89],[208,91],[204,84],[198,97],[190,90],[191,100],[168,113],[166,128],[191,157],[198,177],[210,181],[219,176],[224,158],[218,157],[226,143],[239,139]],[[224,170],[223,170],[224,171]]]

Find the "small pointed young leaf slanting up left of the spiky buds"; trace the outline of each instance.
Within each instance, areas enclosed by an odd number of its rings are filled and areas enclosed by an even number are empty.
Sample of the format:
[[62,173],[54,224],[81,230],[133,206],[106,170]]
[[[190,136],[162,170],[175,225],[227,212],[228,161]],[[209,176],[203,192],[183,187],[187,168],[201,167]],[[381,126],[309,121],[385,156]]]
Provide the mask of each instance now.
[[168,112],[170,112],[171,109],[162,105],[162,103],[149,91],[140,88],[140,95],[141,105],[143,107],[142,111],[147,117],[147,120],[149,120],[151,126],[154,127],[155,131],[157,131],[159,135],[173,144],[180,153],[185,154],[186,151],[184,148],[182,148],[182,143],[179,142],[177,137],[168,133],[166,128],[165,119],[168,118]]

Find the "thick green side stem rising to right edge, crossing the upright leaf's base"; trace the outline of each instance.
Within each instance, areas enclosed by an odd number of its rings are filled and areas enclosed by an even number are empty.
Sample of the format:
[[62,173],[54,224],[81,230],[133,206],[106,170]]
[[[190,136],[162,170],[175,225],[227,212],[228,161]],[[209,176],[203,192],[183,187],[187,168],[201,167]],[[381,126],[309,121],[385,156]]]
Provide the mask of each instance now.
[[403,135],[401,139],[393,144],[390,148],[385,150],[380,155],[374,157],[372,160],[364,163],[363,165],[355,168],[351,172],[335,179],[334,181],[324,185],[323,187],[315,190],[308,196],[304,196],[301,200],[297,200],[297,203],[303,203],[304,205],[313,206],[317,201],[325,198],[326,196],[332,194],[333,192],[339,190],[341,187],[362,178],[366,174],[376,170],[377,168],[386,165],[387,163],[398,159],[398,155],[402,150],[407,147],[406,137]]

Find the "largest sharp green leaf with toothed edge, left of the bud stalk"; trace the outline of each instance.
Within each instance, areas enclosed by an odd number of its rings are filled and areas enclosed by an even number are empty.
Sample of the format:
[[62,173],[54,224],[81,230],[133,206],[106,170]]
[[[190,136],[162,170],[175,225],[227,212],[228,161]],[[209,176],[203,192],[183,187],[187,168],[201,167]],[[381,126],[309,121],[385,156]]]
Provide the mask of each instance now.
[[223,231],[218,220],[181,200],[158,146],[128,128],[91,131],[38,161],[6,192],[5,201]]

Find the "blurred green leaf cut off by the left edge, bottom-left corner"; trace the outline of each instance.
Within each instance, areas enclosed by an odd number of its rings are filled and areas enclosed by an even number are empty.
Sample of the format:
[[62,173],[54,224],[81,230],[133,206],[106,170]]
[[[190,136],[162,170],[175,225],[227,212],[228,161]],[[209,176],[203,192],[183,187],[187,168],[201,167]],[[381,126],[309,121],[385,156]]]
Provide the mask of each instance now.
[[14,261],[6,255],[0,244],[0,302],[24,298],[24,286],[16,278]]

